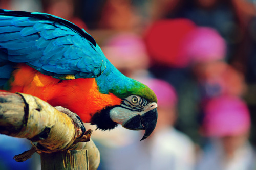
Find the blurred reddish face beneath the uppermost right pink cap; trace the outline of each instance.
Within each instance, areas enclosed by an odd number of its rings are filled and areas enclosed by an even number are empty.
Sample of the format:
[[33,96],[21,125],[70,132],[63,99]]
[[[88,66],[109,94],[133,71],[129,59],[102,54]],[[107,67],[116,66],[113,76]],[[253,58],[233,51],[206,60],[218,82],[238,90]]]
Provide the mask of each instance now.
[[223,61],[197,65],[194,68],[201,100],[223,94],[243,96],[246,91],[244,75]]

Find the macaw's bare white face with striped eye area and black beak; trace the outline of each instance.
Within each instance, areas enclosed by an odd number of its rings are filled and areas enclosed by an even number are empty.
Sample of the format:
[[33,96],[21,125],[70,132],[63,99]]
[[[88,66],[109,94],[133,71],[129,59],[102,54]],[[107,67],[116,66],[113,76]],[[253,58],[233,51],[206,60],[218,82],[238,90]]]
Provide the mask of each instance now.
[[143,139],[146,139],[156,127],[157,103],[149,102],[145,98],[131,95],[119,106],[110,110],[110,118],[124,128],[130,130],[145,130]]

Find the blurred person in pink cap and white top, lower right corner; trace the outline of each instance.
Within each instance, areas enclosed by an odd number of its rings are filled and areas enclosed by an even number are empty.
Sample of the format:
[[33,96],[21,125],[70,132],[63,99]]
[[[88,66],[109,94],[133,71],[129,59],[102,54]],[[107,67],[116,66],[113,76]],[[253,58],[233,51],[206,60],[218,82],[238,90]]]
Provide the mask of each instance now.
[[255,169],[255,151],[248,141],[250,115],[236,96],[220,96],[204,108],[201,132],[208,138],[196,169]]

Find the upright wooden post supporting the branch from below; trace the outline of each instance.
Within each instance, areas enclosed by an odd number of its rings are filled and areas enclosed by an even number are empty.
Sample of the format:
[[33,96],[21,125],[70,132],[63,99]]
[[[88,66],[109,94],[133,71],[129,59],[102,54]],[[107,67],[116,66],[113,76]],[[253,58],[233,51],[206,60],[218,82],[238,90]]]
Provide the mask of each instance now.
[[89,169],[88,150],[41,153],[41,170]]

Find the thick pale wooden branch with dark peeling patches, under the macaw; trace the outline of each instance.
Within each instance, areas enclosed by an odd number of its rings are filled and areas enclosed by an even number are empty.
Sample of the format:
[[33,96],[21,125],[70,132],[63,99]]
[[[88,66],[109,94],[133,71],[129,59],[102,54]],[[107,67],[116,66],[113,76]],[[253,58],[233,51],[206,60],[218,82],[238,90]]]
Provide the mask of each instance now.
[[86,142],[90,140],[91,133],[88,130],[81,137],[81,129],[75,126],[67,114],[39,98],[23,93],[0,92],[0,134],[37,142],[31,150],[16,156],[17,161],[28,159],[34,152],[50,154],[88,149],[89,164],[96,167],[99,165],[99,151],[93,141]]

